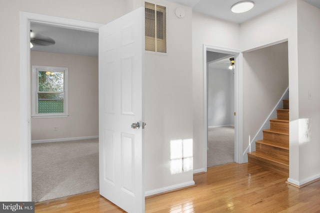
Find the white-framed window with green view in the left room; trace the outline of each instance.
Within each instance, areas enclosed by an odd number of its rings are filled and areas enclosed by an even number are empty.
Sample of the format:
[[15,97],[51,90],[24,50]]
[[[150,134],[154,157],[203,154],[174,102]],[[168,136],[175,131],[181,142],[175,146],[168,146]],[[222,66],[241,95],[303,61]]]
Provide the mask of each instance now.
[[32,66],[32,117],[67,117],[66,67]]

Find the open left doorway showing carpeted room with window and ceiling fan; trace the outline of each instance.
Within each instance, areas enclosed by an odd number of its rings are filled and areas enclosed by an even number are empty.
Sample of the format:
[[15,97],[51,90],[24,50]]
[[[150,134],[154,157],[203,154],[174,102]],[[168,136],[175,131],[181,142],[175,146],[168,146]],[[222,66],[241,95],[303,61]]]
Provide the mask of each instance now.
[[[98,33],[56,27],[31,21],[30,64],[52,71],[65,67],[66,91],[61,100],[46,93],[36,102],[32,92],[31,150],[32,201],[66,197],[97,190],[98,187]],[[54,45],[43,45],[54,39]],[[36,70],[31,85],[37,87]],[[37,71],[36,71],[37,72]],[[40,72],[40,71],[39,71]],[[42,91],[60,84],[55,72],[45,72],[38,79]],[[41,79],[41,81],[40,81]],[[34,84],[34,85],[33,85]],[[85,86],[84,86],[85,85]],[[58,90],[63,90],[59,88]],[[59,96],[60,98],[60,96]],[[35,107],[37,106],[37,107]],[[51,107],[49,107],[51,106]],[[42,113],[36,113],[37,111]],[[65,111],[63,117],[46,115]]]

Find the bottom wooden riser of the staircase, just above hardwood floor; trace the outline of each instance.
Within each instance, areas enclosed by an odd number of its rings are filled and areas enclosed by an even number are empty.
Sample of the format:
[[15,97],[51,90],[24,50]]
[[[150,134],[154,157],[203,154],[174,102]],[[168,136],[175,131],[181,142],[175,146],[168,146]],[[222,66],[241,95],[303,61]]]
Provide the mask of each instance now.
[[252,156],[248,153],[248,162],[259,167],[274,171],[286,177],[289,176],[289,166],[278,164],[267,159],[261,159],[255,156]]

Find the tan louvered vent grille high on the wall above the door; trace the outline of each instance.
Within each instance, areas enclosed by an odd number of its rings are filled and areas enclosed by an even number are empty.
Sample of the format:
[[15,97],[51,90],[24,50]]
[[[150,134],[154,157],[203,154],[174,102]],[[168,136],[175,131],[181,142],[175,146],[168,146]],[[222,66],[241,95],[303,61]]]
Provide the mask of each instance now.
[[166,8],[144,2],[145,50],[166,53]]

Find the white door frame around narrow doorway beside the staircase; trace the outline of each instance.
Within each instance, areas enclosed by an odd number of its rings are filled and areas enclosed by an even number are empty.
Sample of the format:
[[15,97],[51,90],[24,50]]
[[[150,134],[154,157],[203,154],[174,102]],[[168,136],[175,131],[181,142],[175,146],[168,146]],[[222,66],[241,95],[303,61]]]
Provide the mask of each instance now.
[[206,51],[218,52],[224,54],[232,54],[235,56],[236,63],[234,64],[234,161],[243,163],[242,154],[242,53],[238,49],[230,49],[203,44],[203,165],[204,172],[207,171],[207,141],[208,141],[208,78],[207,78],[207,63]]

